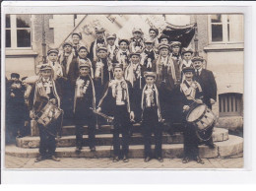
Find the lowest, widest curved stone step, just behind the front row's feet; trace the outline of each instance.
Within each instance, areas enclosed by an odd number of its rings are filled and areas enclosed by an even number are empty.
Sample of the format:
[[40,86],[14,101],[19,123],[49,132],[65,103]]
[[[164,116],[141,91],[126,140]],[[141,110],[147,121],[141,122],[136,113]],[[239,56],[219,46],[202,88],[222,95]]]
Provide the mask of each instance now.
[[[224,142],[216,142],[215,149],[207,146],[199,146],[201,158],[217,158],[237,155],[243,152],[243,138],[229,135],[229,139]],[[154,146],[152,147],[152,149]],[[20,158],[36,158],[38,149],[18,148],[16,146],[6,146],[5,154]],[[163,158],[182,158],[183,144],[162,144]],[[88,147],[84,147],[81,154],[75,153],[75,147],[64,147],[56,149],[56,156],[59,158],[111,158],[113,156],[112,146],[98,146],[96,152],[90,152]],[[144,158],[144,146],[135,145],[129,147],[129,158]]]

